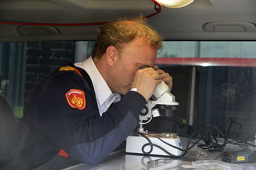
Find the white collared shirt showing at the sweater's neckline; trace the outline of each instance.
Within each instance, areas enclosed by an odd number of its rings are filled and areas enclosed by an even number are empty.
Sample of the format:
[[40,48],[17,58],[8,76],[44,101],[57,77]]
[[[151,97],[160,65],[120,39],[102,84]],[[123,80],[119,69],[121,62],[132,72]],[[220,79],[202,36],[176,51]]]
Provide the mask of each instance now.
[[83,62],[75,63],[74,65],[84,69],[89,74],[94,87],[100,116],[102,116],[102,113],[107,111],[112,102],[115,103],[121,99],[120,94],[111,92],[108,84],[105,82],[104,78],[101,76],[96,65],[94,64],[92,57],[89,57]]

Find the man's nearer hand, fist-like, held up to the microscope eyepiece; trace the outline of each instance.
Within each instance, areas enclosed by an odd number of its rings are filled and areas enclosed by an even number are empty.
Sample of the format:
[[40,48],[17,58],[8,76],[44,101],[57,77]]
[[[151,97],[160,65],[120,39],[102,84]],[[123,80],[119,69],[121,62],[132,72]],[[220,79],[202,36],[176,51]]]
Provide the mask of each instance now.
[[138,70],[133,79],[131,88],[137,88],[137,92],[148,101],[156,90],[157,85],[162,82],[162,76],[160,76],[161,72],[162,70],[154,70],[153,68]]

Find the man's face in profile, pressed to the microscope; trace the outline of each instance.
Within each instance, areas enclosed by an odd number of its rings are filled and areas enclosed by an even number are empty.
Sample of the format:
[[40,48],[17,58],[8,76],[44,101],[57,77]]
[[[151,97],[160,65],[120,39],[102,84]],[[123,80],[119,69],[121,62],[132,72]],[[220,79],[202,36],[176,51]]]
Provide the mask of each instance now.
[[145,65],[152,67],[156,54],[156,47],[147,44],[143,37],[125,44],[108,75],[111,91],[122,95],[130,91],[136,71]]

